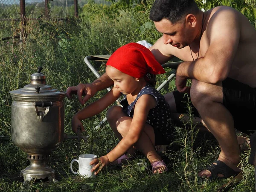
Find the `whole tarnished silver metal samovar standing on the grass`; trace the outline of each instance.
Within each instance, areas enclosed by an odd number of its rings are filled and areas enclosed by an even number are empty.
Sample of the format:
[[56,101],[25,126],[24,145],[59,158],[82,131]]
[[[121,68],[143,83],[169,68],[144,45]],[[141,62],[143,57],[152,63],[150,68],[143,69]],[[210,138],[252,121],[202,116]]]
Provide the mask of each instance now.
[[24,181],[48,177],[55,182],[55,170],[47,165],[47,158],[64,140],[66,92],[47,85],[41,70],[38,67],[38,72],[30,76],[30,84],[10,91],[12,142],[27,153],[30,161],[20,173]]

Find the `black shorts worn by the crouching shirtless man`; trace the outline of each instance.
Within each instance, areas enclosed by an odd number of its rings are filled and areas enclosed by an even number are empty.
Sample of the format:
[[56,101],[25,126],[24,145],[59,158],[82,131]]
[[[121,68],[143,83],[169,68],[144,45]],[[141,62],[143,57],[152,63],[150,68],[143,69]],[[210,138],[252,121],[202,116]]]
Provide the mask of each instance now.
[[[252,134],[256,130],[256,88],[227,78],[222,82],[223,105],[230,111],[235,128],[243,133]],[[188,97],[178,91],[173,92],[178,113],[187,113]],[[192,104],[191,104],[192,105]],[[193,108],[193,114],[199,116]]]

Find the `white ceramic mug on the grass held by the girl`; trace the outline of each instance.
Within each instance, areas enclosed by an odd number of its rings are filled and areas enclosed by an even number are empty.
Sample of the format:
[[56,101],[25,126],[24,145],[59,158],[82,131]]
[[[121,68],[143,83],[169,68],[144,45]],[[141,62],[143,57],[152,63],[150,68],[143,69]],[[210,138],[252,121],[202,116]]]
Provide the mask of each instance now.
[[[91,172],[91,169],[96,165],[90,165],[90,162],[97,158],[97,155],[94,154],[81,154],[79,155],[78,160],[73,159],[70,163],[70,169],[73,174],[79,174],[82,177],[94,177],[94,172]],[[78,166],[78,172],[74,172],[72,165],[74,162],[77,162],[79,164]]]

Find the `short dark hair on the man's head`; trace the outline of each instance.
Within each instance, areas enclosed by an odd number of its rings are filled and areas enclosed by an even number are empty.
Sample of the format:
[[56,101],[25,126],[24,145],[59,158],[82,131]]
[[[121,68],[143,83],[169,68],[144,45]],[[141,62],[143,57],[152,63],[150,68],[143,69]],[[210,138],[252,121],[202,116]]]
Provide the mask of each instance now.
[[149,18],[155,22],[168,19],[174,24],[189,13],[197,14],[198,11],[194,0],[155,0]]

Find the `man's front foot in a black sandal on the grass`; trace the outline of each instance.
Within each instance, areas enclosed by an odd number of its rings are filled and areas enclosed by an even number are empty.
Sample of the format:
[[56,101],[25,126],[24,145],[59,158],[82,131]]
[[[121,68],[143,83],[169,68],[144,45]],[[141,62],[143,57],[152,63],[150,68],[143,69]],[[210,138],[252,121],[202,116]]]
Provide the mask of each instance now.
[[[231,165],[231,166],[230,166]],[[209,180],[215,179],[225,179],[231,176],[236,176],[241,172],[241,169],[237,165],[232,165],[229,163],[229,166],[220,161],[214,160],[205,170],[198,173],[199,177],[208,177]]]

